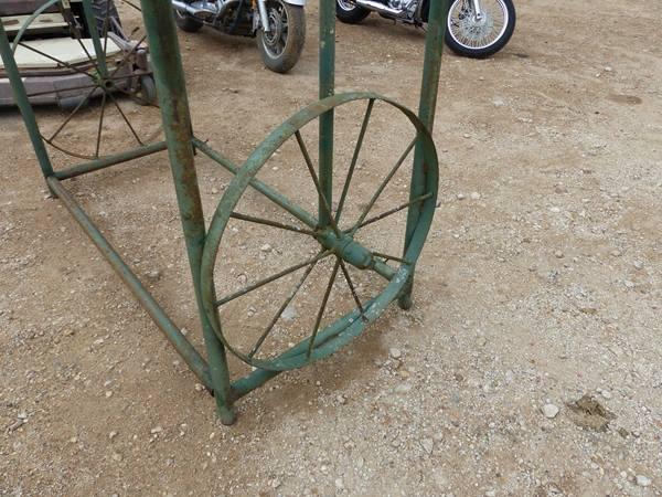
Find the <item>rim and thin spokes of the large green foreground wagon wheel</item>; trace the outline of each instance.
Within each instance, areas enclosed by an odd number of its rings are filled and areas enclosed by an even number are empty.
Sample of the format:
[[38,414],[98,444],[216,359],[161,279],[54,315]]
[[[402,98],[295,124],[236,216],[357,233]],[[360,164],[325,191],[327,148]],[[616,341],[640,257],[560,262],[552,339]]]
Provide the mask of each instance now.
[[[360,138],[356,142],[356,148],[354,149],[354,156],[352,159],[352,165],[349,168],[348,177],[345,178],[343,192],[341,195],[341,200],[339,202],[338,209],[334,215],[331,215],[331,219],[334,221],[331,223],[331,226],[327,226],[323,230],[320,230],[317,226],[317,218],[307,211],[292,207],[291,204],[284,207],[286,211],[292,214],[295,218],[300,221],[303,228],[299,228],[296,225],[280,225],[275,228],[280,228],[286,231],[295,231],[305,236],[313,236],[320,244],[320,248],[317,255],[306,258],[305,261],[299,262],[292,266],[287,267],[286,269],[278,272],[276,274],[270,275],[267,278],[264,278],[259,282],[252,283],[246,287],[242,288],[238,292],[235,292],[231,295],[226,295],[223,298],[216,298],[216,286],[214,283],[214,268],[216,258],[218,256],[218,250],[221,240],[223,234],[227,228],[228,221],[231,219],[239,219],[247,222],[258,222],[267,224],[268,220],[260,219],[250,219],[252,216],[244,215],[242,213],[235,212],[237,203],[239,199],[244,194],[245,190],[248,186],[255,186],[253,182],[257,172],[265,165],[266,160],[278,149],[280,146],[287,141],[288,139],[296,139],[299,148],[301,150],[302,156],[306,159],[307,167],[311,177],[313,178],[313,182],[316,182],[317,192],[320,193],[319,186],[317,184],[317,180],[314,179],[314,168],[310,163],[310,155],[306,148],[306,144],[299,133],[299,129],[310,123],[313,119],[317,119],[321,114],[338,107],[343,104],[348,104],[350,102],[364,99],[367,101],[367,108],[364,116],[363,125],[360,133]],[[406,118],[412,123],[415,128],[416,136],[413,141],[409,144],[406,150],[403,151],[402,156],[396,161],[396,165],[391,169],[389,175],[391,178],[386,178],[385,181],[382,181],[380,186],[375,189],[375,193],[367,205],[361,212],[361,215],[353,220],[351,226],[346,230],[342,230],[339,234],[338,221],[343,212],[343,203],[345,202],[348,195],[346,192],[349,190],[349,184],[352,181],[352,173],[356,161],[356,156],[361,148],[362,136],[365,133],[365,128],[367,123],[370,121],[370,114],[372,112],[373,104],[375,102],[384,102],[389,106],[393,106],[399,109]],[[389,209],[384,212],[372,213],[371,210],[375,205],[376,199],[382,194],[384,188],[391,179],[393,175],[391,172],[395,172],[402,166],[403,162],[413,155],[414,148],[418,148],[423,154],[425,166],[426,166],[426,181],[425,181],[425,191],[418,197],[409,199],[408,202],[396,205],[393,209]],[[210,230],[207,233],[207,239],[204,246],[202,266],[201,266],[201,288],[203,295],[203,307],[206,314],[206,317],[221,339],[221,341],[225,345],[227,350],[229,350],[233,355],[239,358],[247,364],[252,367],[271,370],[271,371],[285,371],[290,369],[296,369],[325,358],[340,349],[342,346],[351,341],[354,337],[361,335],[367,325],[376,320],[380,315],[384,311],[384,309],[394,302],[403,292],[409,277],[413,274],[414,266],[416,261],[420,254],[423,248],[423,244],[429,231],[435,204],[437,197],[437,186],[438,186],[438,163],[437,156],[434,142],[426,130],[425,126],[414,113],[408,110],[407,108],[396,104],[395,102],[381,97],[373,93],[351,93],[351,94],[342,94],[335,95],[333,97],[325,98],[320,101],[317,104],[313,104],[298,114],[296,114],[292,118],[288,119],[276,131],[274,131],[267,139],[263,141],[263,144],[257,147],[257,149],[253,152],[253,155],[248,158],[245,165],[239,169],[233,181],[226,189],[225,195],[222,198],[214,216],[212,219]],[[325,202],[323,201],[323,195],[320,194],[322,199],[320,201],[322,209],[327,210],[330,214],[329,205],[323,205]],[[274,201],[274,199],[270,199]],[[282,199],[281,199],[282,200]],[[279,201],[275,201],[278,203]],[[287,203],[285,200],[284,203]],[[362,302],[356,295],[354,288],[354,282],[349,275],[348,268],[351,267],[354,262],[350,262],[348,260],[346,254],[342,251],[338,251],[337,246],[330,247],[324,240],[327,237],[337,237],[349,236],[354,241],[354,235],[363,230],[365,226],[376,223],[387,216],[401,212],[412,205],[419,207],[419,218],[414,230],[414,234],[412,236],[412,242],[408,245],[408,248],[404,255],[401,254],[381,254],[378,252],[371,252],[371,256],[373,257],[374,266],[370,269],[376,273],[388,273],[389,281],[386,287],[374,298]],[[271,221],[268,221],[269,225],[274,225]],[[278,224],[278,223],[277,223]],[[344,240],[344,239],[343,239]],[[365,248],[365,247],[364,247]],[[323,298],[320,303],[319,309],[316,315],[316,324],[311,329],[310,335],[307,339],[299,342],[299,345],[295,346],[280,353],[274,359],[258,359],[256,358],[256,351],[258,351],[264,342],[264,340],[269,336],[273,331],[274,324],[280,318],[280,315],[285,310],[285,308],[291,303],[291,299],[296,296],[297,292],[301,287],[301,285],[306,282],[307,277],[310,275],[311,271],[316,267],[318,263],[325,260],[327,257],[334,257],[335,262],[333,264],[333,269],[331,271],[330,278],[327,283],[325,290],[323,294]],[[388,265],[387,261],[391,263],[396,262],[399,265],[397,267],[393,267]],[[357,267],[357,266],[356,266]],[[218,315],[218,308],[235,298],[239,298],[241,296],[247,295],[247,293],[253,292],[254,289],[267,285],[269,283],[276,282],[286,275],[293,274],[297,271],[303,271],[301,278],[292,287],[292,290],[288,294],[285,302],[280,305],[278,311],[276,313],[274,319],[269,321],[269,326],[263,331],[259,336],[258,340],[252,346],[252,348],[247,351],[239,350],[238,347],[234,346],[231,340],[222,331],[222,322]],[[341,281],[341,284],[345,286],[345,295],[350,296],[355,303],[354,310],[346,313],[340,319],[335,319],[330,325],[321,328],[322,316],[324,315],[324,310],[329,300],[329,294],[331,292],[331,287],[337,282],[337,279]]]

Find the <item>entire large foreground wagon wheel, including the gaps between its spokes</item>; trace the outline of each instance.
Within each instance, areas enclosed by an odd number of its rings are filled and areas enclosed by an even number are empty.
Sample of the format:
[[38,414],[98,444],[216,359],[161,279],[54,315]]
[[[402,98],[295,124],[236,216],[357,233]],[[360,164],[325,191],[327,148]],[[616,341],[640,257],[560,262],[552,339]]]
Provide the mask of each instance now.
[[[330,112],[337,145],[325,175],[306,135]],[[414,150],[423,167],[412,189]],[[203,305],[225,347],[254,368],[285,371],[362,334],[405,290],[437,187],[428,131],[391,99],[335,95],[285,121],[236,170],[207,233]]]

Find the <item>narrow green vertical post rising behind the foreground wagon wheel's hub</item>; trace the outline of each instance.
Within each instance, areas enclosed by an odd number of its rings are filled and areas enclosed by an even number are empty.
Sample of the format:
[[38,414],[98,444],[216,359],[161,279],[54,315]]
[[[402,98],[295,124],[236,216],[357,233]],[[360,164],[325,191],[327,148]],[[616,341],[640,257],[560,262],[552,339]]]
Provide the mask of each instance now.
[[[320,98],[334,93],[335,82],[335,0],[320,0]],[[333,205],[333,110],[320,116],[319,129],[319,178],[320,187],[329,205]],[[321,226],[331,222],[320,199],[319,220]]]

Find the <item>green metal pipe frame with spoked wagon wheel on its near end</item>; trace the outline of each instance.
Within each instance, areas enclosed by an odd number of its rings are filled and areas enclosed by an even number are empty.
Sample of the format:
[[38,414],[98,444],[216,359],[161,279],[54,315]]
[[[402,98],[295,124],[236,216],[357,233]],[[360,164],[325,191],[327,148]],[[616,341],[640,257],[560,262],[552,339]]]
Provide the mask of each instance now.
[[[90,15],[90,1],[84,1],[84,9]],[[426,38],[425,61],[423,71],[421,93],[418,116],[388,98],[373,93],[334,94],[334,56],[335,56],[335,1],[320,1],[320,63],[319,63],[319,97],[316,104],[306,107],[290,119],[279,126],[255,150],[242,167],[235,166],[231,160],[214,151],[206,144],[195,138],[192,130],[184,73],[179,50],[175,23],[172,8],[166,0],[141,0],[143,22],[150,46],[151,63],[154,71],[159,104],[162,116],[164,140],[140,146],[113,156],[97,158],[83,163],[77,163],[64,170],[55,171],[36,123],[32,106],[28,99],[25,87],[22,83],[17,64],[12,56],[12,46],[0,25],[0,53],[4,61],[6,71],[11,81],[14,98],[23,116],[28,135],[30,136],[41,171],[51,192],[60,199],[71,215],[95,243],[119,277],[134,293],[135,297],[147,310],[157,326],[164,334],[183,360],[195,373],[200,381],[214,395],[217,413],[224,424],[235,421],[233,403],[252,390],[263,385],[266,381],[281,371],[299,368],[313,360],[321,359],[337,351],[353,337],[361,334],[365,326],[376,319],[383,309],[392,302],[397,300],[402,308],[412,306],[412,290],[416,258],[425,243],[431,218],[435,211],[437,195],[437,156],[430,134],[434,126],[437,91],[444,46],[445,18],[448,10],[448,0],[431,0],[429,24]],[[100,39],[97,33],[93,35],[96,56],[99,61],[100,77],[104,76],[105,60]],[[365,126],[370,118],[372,105],[375,101],[384,101],[402,110],[414,124],[417,137],[412,142],[409,150],[415,149],[410,201],[396,210],[407,209],[407,228],[405,253],[403,258],[391,257],[403,264],[395,271],[376,257],[377,254],[366,253],[366,250],[351,240],[353,233],[339,233],[331,214],[331,181],[333,169],[333,109],[338,105],[356,99],[367,101],[367,110],[357,140],[354,156],[361,147]],[[311,165],[310,156],[300,140],[298,129],[312,119],[319,118],[319,176]],[[270,187],[255,179],[254,176],[266,158],[277,149],[288,137],[295,136],[299,141],[306,158],[311,177],[319,193],[318,219],[302,212],[292,205],[288,199],[280,195]],[[140,279],[122,261],[118,252],[108,243],[99,229],[87,216],[82,207],[65,188],[65,180],[81,175],[122,163],[139,157],[168,150],[170,167],[173,176],[174,188],[180,210],[181,223],[186,244],[186,252],[197,309],[200,314],[202,334],[206,348],[206,359],[195,350],[193,345],[181,332],[180,328],[170,319],[152,295],[145,288]],[[214,219],[209,228],[203,219],[199,182],[196,178],[194,156],[201,152],[228,170],[235,178],[227,188],[226,195],[222,199]],[[405,156],[404,156],[405,157]],[[398,162],[404,160],[401,158]],[[355,162],[355,159],[354,159]],[[399,166],[396,165],[396,169]],[[353,167],[353,166],[352,166]],[[351,172],[350,172],[351,175]],[[245,188],[255,188],[278,205],[289,211],[305,224],[310,226],[310,233],[322,245],[324,253],[333,253],[337,257],[334,274],[339,267],[345,272],[345,263],[360,269],[372,269],[389,281],[386,289],[353,313],[340,318],[327,328],[319,330],[316,327],[312,336],[278,356],[273,361],[255,361],[255,370],[248,376],[231,380],[227,367],[226,351],[232,349],[221,330],[217,317],[218,302],[214,295],[213,265],[216,250],[227,219],[233,215],[232,208],[236,204]],[[345,180],[345,187],[349,179]],[[383,188],[383,187],[382,187]],[[341,199],[341,204],[344,195]],[[234,203],[233,203],[234,202]],[[373,202],[374,203],[374,202]],[[340,210],[340,208],[339,208]],[[335,220],[338,219],[335,216]],[[365,220],[363,224],[373,222],[380,216]],[[314,230],[314,231],[313,231]],[[369,257],[366,260],[365,257]],[[314,261],[309,264],[314,264]],[[300,266],[303,267],[303,266]],[[270,279],[273,281],[273,279]],[[332,283],[332,282],[331,282]],[[348,281],[351,287],[351,282]],[[325,298],[328,298],[329,288]],[[325,305],[325,302],[323,303]],[[323,313],[323,306],[322,311]],[[246,357],[239,359],[246,360]],[[248,358],[250,359],[250,358]],[[249,362],[249,361],[248,361]],[[250,362],[249,362],[250,363]]]

